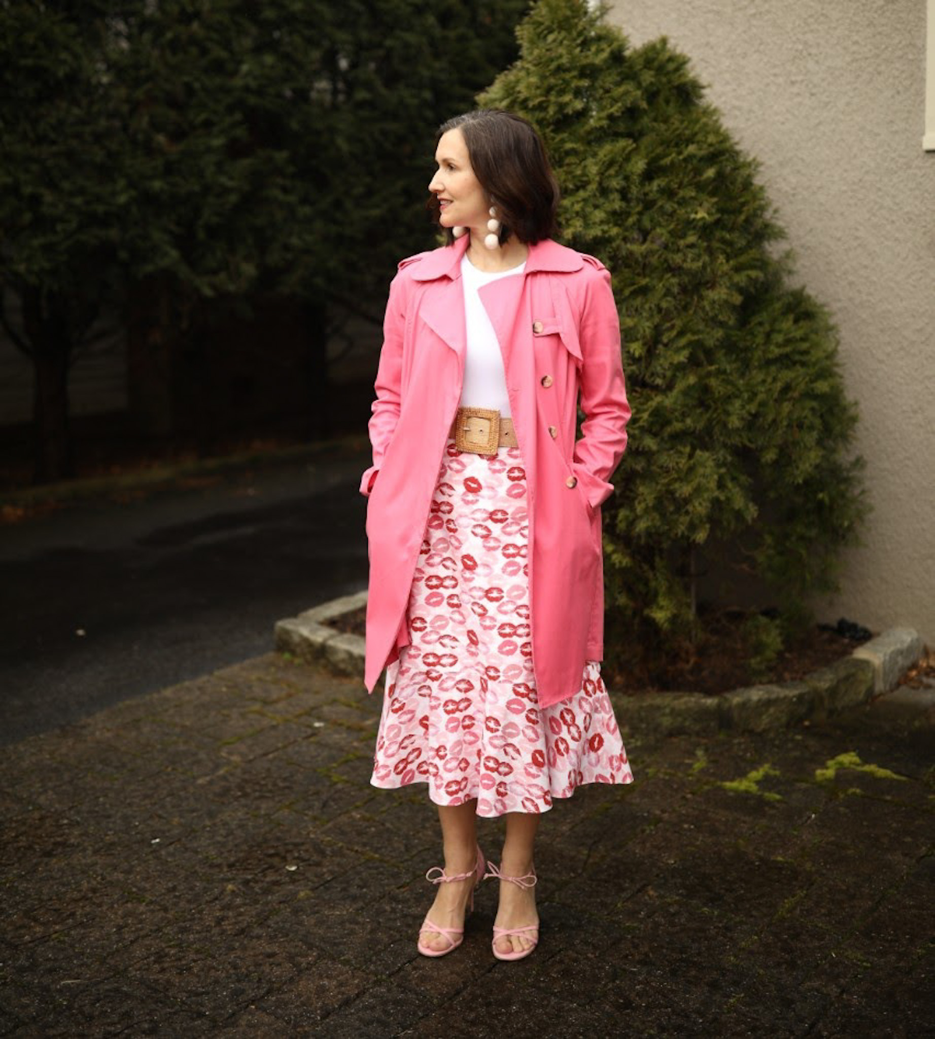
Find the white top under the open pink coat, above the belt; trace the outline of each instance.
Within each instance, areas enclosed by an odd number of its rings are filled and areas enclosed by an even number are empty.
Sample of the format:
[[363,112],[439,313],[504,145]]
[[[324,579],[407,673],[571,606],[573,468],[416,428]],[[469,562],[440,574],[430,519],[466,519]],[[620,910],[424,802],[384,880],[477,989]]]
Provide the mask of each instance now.
[[468,332],[468,353],[464,357],[464,382],[461,404],[466,407],[490,407],[503,418],[510,418],[510,400],[506,390],[506,372],[497,332],[478,289],[500,277],[522,274],[524,261],[509,270],[478,270],[465,254],[461,258],[461,282],[464,285],[464,323]]

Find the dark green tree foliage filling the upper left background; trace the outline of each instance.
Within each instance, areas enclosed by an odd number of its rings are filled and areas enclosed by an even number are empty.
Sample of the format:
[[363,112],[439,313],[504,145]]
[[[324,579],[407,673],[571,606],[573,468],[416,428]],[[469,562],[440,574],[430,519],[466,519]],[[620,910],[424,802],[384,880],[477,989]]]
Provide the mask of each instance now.
[[366,313],[431,246],[435,128],[528,2],[0,0],[0,320],[56,384],[45,414],[107,297],[177,350],[212,298],[300,297],[319,340],[336,302]]

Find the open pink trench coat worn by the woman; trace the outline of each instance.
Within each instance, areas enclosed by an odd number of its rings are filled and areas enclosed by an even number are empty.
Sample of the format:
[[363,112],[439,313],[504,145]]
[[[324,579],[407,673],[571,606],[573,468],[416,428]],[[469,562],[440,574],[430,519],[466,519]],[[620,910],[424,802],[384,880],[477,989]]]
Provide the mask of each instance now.
[[[460,262],[468,237],[399,265],[390,288],[370,420],[365,684],[409,642],[406,609],[464,373]],[[600,503],[626,447],[630,405],[610,274],[554,241],[523,275],[480,290],[503,351],[529,503],[530,624],[539,704],[580,689],[604,657]],[[585,414],[576,443],[579,392]],[[378,476],[377,476],[378,474]]]

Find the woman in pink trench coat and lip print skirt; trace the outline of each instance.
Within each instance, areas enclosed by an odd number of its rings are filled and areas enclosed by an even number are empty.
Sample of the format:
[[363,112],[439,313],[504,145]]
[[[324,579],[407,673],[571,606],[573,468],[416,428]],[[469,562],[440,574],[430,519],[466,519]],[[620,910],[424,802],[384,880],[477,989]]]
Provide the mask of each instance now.
[[[633,781],[600,678],[600,503],[630,407],[610,276],[552,240],[536,131],[496,110],[438,132],[430,208],[447,244],[390,289],[370,420],[366,684],[384,666],[372,782],[426,782],[445,865],[419,935],[444,956],[483,876],[493,955],[538,940],[533,850],[553,799]],[[579,402],[585,415],[576,442]],[[476,819],[506,817],[499,867]]]

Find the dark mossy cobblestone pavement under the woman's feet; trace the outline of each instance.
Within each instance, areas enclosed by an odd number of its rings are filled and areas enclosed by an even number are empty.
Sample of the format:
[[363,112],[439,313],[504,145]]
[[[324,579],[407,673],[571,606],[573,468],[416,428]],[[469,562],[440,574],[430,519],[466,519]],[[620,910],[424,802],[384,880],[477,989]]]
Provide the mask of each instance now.
[[491,884],[416,952],[436,822],[369,785],[378,711],[269,654],[6,748],[0,1034],[933,1034],[931,708],[627,732],[636,783],[543,820],[518,963]]

